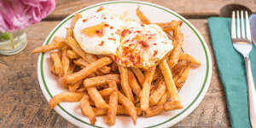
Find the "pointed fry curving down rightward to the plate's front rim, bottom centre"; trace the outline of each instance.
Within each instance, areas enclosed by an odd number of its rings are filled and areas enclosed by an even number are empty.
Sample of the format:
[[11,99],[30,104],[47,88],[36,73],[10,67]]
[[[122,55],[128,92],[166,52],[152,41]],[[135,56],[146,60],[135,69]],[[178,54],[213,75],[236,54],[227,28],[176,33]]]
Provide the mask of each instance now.
[[133,124],[136,125],[137,110],[134,104],[119,91],[118,91],[118,96],[119,96],[118,97],[119,103],[121,103],[122,106],[129,112],[131,119],[133,121]]

